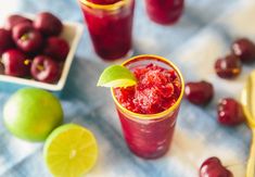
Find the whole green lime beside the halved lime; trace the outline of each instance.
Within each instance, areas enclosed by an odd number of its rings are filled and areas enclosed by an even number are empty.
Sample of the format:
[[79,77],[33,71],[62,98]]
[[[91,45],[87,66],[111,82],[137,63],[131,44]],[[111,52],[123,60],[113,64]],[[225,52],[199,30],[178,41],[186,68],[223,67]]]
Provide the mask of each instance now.
[[63,110],[52,93],[37,88],[24,88],[4,104],[3,119],[14,136],[29,141],[43,141],[62,124]]

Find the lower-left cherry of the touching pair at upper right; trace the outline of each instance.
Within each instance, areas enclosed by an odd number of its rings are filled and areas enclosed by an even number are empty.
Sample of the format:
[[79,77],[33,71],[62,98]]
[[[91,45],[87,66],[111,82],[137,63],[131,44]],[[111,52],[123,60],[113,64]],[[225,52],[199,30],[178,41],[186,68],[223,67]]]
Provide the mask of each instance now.
[[240,59],[233,54],[226,58],[219,58],[215,63],[215,71],[221,78],[234,78],[241,71],[242,65]]

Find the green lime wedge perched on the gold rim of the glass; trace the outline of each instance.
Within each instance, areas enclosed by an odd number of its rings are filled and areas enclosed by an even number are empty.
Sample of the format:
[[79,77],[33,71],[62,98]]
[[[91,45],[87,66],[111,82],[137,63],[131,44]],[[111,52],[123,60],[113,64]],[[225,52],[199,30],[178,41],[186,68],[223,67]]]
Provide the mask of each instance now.
[[112,65],[101,74],[98,86],[102,87],[129,87],[137,84],[135,75],[126,67]]

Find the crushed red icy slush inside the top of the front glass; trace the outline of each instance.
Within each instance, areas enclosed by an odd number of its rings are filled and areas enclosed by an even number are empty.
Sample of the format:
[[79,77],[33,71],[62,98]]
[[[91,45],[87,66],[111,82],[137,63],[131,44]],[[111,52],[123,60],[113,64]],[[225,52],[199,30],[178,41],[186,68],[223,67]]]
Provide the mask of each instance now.
[[131,112],[156,114],[170,108],[180,96],[180,80],[175,71],[149,64],[133,71],[138,84],[128,88],[116,88],[118,102]]

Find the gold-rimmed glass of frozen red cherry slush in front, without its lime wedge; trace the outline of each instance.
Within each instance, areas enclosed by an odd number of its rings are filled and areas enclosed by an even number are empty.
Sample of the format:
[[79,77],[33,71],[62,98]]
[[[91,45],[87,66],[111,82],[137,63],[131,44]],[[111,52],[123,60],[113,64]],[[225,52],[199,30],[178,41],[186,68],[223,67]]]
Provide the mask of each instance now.
[[123,66],[137,78],[136,86],[112,88],[126,142],[138,156],[160,157],[171,143],[184,89],[181,73],[156,55],[138,55]]

